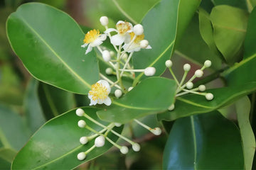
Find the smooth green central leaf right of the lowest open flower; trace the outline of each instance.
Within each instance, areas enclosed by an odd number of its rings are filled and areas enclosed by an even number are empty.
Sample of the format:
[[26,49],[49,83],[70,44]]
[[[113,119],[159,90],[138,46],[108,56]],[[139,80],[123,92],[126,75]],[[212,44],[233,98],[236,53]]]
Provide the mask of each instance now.
[[176,82],[161,77],[145,79],[97,115],[107,122],[127,123],[144,115],[161,113],[174,102]]

